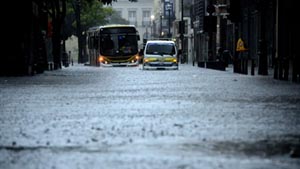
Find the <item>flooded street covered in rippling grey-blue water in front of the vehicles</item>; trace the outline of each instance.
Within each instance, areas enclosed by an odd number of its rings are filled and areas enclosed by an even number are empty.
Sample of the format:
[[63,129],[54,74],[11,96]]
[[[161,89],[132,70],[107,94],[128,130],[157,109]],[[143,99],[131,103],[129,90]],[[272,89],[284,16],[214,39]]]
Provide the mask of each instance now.
[[300,86],[75,65],[0,77],[1,169],[298,169]]

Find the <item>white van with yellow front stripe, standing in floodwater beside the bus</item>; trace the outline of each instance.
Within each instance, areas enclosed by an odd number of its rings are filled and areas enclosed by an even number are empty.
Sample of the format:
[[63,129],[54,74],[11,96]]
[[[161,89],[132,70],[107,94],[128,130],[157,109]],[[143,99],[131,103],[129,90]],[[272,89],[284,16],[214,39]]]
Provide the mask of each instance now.
[[175,42],[167,40],[147,41],[144,49],[143,69],[178,70],[177,47]]

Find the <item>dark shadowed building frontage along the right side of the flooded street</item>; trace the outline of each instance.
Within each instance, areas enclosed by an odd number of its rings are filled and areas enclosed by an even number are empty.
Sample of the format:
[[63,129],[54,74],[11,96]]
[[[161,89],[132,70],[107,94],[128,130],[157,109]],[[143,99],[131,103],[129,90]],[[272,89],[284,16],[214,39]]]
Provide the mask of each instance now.
[[[275,79],[299,82],[296,8],[295,1],[194,0],[198,66],[223,60],[233,64],[235,73],[272,73]],[[239,39],[245,50],[238,50]]]

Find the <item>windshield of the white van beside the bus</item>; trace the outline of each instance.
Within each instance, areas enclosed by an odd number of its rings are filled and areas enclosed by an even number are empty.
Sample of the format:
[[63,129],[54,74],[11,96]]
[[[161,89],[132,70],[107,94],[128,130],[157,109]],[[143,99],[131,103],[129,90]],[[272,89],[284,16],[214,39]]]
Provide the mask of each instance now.
[[146,54],[152,55],[174,55],[175,46],[172,43],[149,43],[147,45]]

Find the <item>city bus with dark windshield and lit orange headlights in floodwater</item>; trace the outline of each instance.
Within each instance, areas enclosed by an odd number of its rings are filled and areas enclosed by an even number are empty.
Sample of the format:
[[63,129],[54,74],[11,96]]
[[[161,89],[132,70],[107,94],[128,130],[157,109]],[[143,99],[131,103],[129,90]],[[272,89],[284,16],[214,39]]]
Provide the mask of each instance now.
[[91,65],[138,66],[138,41],[134,25],[106,25],[87,31],[88,55]]

